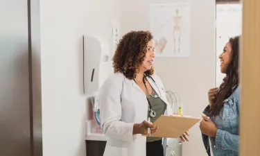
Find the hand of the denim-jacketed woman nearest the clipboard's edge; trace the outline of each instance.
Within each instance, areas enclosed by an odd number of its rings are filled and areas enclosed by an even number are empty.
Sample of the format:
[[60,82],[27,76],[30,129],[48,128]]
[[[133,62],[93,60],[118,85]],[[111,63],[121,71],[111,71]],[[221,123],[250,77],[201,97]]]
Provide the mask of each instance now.
[[202,115],[202,121],[200,121],[200,130],[204,135],[207,135],[209,137],[216,137],[216,132],[218,131],[218,128],[216,128],[216,125],[211,119],[209,119],[207,116]]

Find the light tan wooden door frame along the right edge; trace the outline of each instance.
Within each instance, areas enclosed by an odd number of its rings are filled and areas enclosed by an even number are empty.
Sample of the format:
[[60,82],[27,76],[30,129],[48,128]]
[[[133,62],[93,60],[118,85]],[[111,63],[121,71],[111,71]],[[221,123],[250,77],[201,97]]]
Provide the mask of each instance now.
[[260,153],[260,1],[243,1],[240,80],[240,156]]

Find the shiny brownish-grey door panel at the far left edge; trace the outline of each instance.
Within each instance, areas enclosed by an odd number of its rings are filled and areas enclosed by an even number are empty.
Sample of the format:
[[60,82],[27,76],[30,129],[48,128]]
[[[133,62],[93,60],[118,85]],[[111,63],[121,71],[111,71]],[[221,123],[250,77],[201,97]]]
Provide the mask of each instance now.
[[0,0],[0,155],[31,151],[27,0]]

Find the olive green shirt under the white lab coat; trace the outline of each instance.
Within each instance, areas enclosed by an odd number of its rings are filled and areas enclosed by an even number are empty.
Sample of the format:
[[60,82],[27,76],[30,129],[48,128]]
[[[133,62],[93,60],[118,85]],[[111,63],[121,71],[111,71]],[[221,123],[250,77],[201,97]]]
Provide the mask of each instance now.
[[[157,93],[155,92],[155,90],[153,89],[152,95],[155,96],[157,95]],[[157,97],[154,98],[153,96],[146,96],[148,98],[148,101],[150,102],[150,105],[152,105],[153,110],[155,111],[156,115],[155,117],[150,117],[150,122],[154,123],[159,116],[163,115],[165,110],[166,110],[166,103],[164,103],[164,101],[162,101],[161,98]],[[148,116],[149,117],[150,114],[150,106],[148,105]],[[146,142],[151,142],[151,141],[158,141],[162,139],[161,137],[146,137]]]

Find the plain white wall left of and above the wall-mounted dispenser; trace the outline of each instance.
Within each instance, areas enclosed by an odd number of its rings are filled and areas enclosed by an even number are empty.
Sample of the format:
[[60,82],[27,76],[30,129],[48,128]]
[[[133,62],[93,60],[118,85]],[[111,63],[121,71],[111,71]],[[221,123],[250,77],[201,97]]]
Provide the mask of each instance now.
[[118,0],[40,1],[44,156],[86,155],[84,121],[89,113],[83,94],[82,36],[98,34],[110,40],[109,27],[119,15],[117,4]]

